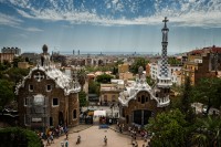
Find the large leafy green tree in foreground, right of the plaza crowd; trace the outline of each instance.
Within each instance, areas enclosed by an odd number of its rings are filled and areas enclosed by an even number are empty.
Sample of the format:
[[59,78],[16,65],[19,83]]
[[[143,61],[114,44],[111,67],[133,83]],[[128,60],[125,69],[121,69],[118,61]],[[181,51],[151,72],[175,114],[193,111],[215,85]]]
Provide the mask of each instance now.
[[150,118],[146,126],[154,133],[150,140],[151,147],[181,147],[186,137],[185,115],[179,109],[161,113],[156,118]]

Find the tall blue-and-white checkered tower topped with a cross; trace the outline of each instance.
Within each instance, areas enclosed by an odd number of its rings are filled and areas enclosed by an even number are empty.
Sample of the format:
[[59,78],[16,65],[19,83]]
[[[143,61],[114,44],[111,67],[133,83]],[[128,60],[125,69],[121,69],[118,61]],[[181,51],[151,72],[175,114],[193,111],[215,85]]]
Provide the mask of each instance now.
[[162,51],[161,51],[161,62],[160,62],[160,73],[157,77],[157,88],[159,93],[157,94],[160,101],[165,102],[169,98],[170,87],[172,85],[171,78],[168,76],[168,61],[167,61],[167,45],[168,45],[168,32],[169,29],[167,28],[168,19],[165,17],[162,20],[165,23],[164,28],[161,29],[162,32]]

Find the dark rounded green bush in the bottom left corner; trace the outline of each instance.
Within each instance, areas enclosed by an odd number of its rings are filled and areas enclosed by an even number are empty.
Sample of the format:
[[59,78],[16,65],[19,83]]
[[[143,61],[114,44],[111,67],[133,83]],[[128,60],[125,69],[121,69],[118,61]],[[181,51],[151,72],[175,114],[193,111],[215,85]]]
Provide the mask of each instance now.
[[0,129],[1,145],[42,147],[43,144],[36,133],[19,127]]

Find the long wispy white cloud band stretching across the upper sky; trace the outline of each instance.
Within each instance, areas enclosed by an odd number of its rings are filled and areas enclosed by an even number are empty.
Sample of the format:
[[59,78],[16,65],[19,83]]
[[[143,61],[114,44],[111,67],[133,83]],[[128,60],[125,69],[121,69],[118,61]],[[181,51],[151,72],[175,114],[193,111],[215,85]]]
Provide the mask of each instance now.
[[[11,0],[13,1],[13,0]],[[23,6],[27,6],[28,0],[20,0]],[[15,2],[15,0],[14,0]],[[156,0],[155,9],[156,13],[150,17],[137,17],[133,19],[125,19],[122,17],[120,19],[113,19],[112,14],[109,15],[101,15],[97,14],[94,9],[93,12],[86,10],[84,11],[62,11],[60,8],[46,8],[43,10],[36,10],[35,8],[27,8],[17,9],[17,11],[24,18],[29,19],[39,19],[39,20],[48,20],[48,21],[69,21],[71,23],[91,23],[91,24],[99,24],[99,25],[131,25],[131,24],[160,24],[164,17],[168,17],[170,23],[172,25],[178,27],[208,27],[221,28],[221,4],[219,4],[219,0],[213,0],[212,7],[208,9],[208,6],[203,6],[200,1],[196,2],[196,0],[189,1],[180,1],[180,10],[176,8],[176,3],[172,3],[171,7],[167,6],[161,9],[162,1]],[[109,9],[123,11],[124,6],[119,3],[118,0],[113,0],[114,8],[110,8],[110,4],[107,4]],[[57,7],[57,4],[53,4]],[[84,7],[84,6],[83,6]],[[207,10],[207,11],[206,11]],[[2,20],[0,20],[2,21]],[[12,21],[11,23],[18,23],[18,21]]]

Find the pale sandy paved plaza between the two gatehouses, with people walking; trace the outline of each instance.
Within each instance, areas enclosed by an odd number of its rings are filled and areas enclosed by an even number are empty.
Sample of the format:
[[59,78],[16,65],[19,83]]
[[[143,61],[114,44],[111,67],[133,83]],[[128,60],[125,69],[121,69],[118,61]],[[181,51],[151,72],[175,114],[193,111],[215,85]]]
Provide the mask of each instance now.
[[[84,127],[84,126],[80,126]],[[80,129],[73,128],[73,129]],[[69,134],[69,147],[104,147],[104,137],[107,137],[107,147],[131,147],[131,137],[126,134],[119,134],[114,128],[101,128],[97,125],[87,126],[85,129],[78,132],[70,129]],[[78,133],[77,133],[78,132]],[[76,145],[77,136],[81,136],[81,144]],[[50,147],[61,147],[61,143],[65,141],[66,136],[61,136],[59,139],[54,139],[54,144]],[[137,139],[138,147],[143,147],[143,144],[147,145],[141,138]],[[45,143],[45,141],[44,141]]]

